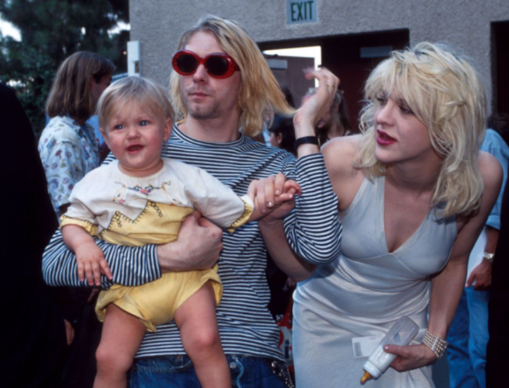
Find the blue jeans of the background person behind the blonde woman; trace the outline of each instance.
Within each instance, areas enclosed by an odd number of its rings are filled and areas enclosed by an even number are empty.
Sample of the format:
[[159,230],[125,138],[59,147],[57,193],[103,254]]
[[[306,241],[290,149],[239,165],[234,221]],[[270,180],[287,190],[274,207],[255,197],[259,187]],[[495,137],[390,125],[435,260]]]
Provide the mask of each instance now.
[[489,291],[465,288],[447,341],[451,388],[486,387]]

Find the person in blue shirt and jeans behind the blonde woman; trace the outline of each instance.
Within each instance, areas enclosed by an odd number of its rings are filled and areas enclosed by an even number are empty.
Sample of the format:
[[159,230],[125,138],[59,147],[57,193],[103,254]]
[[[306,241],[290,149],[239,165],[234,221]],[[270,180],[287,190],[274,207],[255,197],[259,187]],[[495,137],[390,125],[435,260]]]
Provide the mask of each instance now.
[[480,150],[490,153],[503,170],[502,187],[469,257],[466,284],[447,335],[447,361],[451,388],[486,387],[488,301],[492,286],[492,265],[499,240],[500,212],[506,186],[509,147],[502,137],[487,129]]

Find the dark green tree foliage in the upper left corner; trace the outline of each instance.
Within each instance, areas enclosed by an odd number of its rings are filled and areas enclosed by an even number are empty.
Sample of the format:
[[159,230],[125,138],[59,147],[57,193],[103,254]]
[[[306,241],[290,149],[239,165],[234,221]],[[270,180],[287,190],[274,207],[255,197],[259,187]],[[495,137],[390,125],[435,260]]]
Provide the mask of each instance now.
[[45,126],[45,101],[60,63],[77,51],[97,52],[126,72],[127,0],[0,0],[3,20],[21,41],[0,36],[0,81],[16,89],[37,135]]

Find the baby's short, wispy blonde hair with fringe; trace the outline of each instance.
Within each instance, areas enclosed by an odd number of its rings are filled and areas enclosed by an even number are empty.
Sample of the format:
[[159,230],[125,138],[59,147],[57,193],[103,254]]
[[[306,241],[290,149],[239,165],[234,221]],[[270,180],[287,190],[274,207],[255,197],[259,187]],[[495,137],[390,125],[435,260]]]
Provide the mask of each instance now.
[[162,86],[142,77],[126,77],[119,79],[102,93],[97,108],[99,127],[105,131],[112,116],[132,102],[158,118],[169,118],[173,122],[174,110],[167,91]]

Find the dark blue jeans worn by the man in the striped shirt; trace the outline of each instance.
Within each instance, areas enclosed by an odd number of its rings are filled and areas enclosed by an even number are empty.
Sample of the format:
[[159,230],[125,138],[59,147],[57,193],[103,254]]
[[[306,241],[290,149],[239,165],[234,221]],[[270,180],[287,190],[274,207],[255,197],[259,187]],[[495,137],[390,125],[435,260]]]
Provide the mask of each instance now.
[[[227,360],[230,366],[231,387],[286,387],[284,380],[273,372],[269,359],[227,355]],[[129,373],[128,387],[201,388],[201,385],[189,357],[175,355],[135,359]]]

